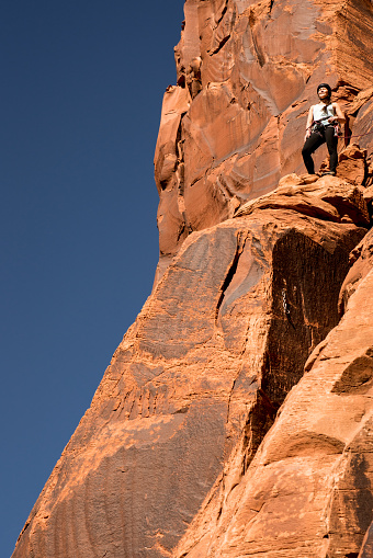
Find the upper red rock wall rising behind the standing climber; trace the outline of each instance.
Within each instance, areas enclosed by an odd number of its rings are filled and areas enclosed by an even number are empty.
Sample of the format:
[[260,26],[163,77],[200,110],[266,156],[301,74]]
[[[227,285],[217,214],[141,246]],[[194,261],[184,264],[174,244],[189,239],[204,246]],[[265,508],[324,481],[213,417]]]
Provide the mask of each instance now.
[[161,259],[304,172],[299,145],[320,81],[350,111],[347,136],[372,152],[372,135],[361,136],[373,130],[372,33],[369,0],[185,2],[178,86],[165,94],[155,156]]

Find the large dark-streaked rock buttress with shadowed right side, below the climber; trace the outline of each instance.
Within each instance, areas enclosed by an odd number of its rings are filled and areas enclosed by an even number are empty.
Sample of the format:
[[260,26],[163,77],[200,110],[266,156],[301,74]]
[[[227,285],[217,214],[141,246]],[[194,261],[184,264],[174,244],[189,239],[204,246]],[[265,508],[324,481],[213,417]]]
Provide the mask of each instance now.
[[364,231],[279,205],[190,236],[117,349],[14,556],[170,553],[237,452],[244,475],[337,323],[348,254]]

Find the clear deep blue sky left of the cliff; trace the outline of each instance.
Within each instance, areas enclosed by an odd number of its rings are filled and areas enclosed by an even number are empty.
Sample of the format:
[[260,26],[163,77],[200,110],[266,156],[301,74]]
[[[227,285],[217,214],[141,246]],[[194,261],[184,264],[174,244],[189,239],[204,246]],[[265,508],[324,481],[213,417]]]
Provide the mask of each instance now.
[[1,557],[150,294],[182,8],[1,3]]

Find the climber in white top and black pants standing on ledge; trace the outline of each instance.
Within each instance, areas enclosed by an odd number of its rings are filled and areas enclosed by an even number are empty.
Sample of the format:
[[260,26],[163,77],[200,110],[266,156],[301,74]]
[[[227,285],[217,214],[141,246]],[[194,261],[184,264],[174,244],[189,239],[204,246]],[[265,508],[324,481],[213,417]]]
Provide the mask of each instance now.
[[318,86],[317,95],[320,102],[309,109],[302,156],[308,174],[315,174],[312,153],[326,143],[330,156],[330,170],[323,174],[335,175],[338,164],[338,124],[343,124],[346,118],[339,104],[330,102],[331,88],[328,83]]

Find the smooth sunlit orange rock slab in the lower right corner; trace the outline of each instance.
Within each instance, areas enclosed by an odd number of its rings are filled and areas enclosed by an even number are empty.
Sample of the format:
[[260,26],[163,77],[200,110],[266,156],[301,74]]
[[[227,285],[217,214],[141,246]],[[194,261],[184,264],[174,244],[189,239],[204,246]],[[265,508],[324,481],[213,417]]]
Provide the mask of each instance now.
[[176,556],[372,556],[372,288],[371,267],[218,520]]

